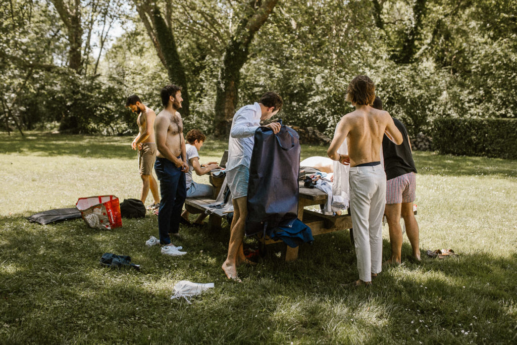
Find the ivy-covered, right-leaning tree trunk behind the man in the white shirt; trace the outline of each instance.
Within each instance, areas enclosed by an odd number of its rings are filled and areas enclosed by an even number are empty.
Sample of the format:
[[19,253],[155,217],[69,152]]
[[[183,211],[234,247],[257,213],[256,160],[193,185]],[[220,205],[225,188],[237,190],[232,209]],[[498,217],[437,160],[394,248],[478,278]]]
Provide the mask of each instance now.
[[[217,95],[214,115],[214,134],[226,137],[238,101],[240,69],[248,60],[249,46],[255,33],[266,22],[278,0],[249,2],[249,14],[242,18],[235,34],[225,49],[223,65],[217,81]],[[260,5],[259,5],[260,4]]]

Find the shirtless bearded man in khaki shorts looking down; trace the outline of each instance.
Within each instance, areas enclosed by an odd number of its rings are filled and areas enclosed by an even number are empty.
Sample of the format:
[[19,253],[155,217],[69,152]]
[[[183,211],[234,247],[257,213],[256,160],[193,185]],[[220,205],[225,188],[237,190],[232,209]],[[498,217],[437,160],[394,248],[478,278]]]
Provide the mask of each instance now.
[[155,209],[160,206],[160,196],[158,195],[158,184],[153,176],[153,165],[156,160],[156,143],[155,143],[155,118],[156,114],[153,109],[147,108],[142,103],[140,97],[136,95],[129,96],[126,107],[131,109],[133,113],[138,114],[136,124],[138,125],[138,136],[131,143],[133,149],[138,148],[138,166],[140,168],[140,177],[142,178],[142,193],[140,200],[145,204],[149,188],[153,194],[154,202],[148,208]]

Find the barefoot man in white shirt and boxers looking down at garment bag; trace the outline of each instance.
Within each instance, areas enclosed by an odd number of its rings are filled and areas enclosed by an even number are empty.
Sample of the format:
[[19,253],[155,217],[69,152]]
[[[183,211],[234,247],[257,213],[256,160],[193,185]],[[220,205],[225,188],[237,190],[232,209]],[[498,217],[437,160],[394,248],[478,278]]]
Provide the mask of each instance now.
[[[229,279],[239,280],[237,265],[249,262],[242,251],[242,239],[246,225],[247,193],[251,154],[253,152],[255,130],[261,120],[268,119],[282,108],[282,97],[274,92],[265,93],[260,101],[240,108],[233,117],[230,140],[228,142],[228,161],[226,163],[226,182],[232,192],[233,220],[230,227],[228,256],[222,269]],[[274,133],[280,131],[279,123],[266,125]]]

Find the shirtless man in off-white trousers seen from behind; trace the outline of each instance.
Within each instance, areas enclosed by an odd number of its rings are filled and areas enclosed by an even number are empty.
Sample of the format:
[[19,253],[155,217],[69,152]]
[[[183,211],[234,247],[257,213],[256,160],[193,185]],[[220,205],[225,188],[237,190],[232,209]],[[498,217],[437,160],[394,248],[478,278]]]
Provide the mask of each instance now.
[[[369,286],[372,276],[382,270],[382,217],[386,204],[386,174],[381,165],[384,133],[397,145],[402,134],[386,111],[371,107],[375,84],[367,76],[357,76],[348,85],[346,100],[356,110],[341,118],[327,155],[342,164],[350,164],[350,208],[359,280],[353,286]],[[348,155],[338,154],[347,140]]]

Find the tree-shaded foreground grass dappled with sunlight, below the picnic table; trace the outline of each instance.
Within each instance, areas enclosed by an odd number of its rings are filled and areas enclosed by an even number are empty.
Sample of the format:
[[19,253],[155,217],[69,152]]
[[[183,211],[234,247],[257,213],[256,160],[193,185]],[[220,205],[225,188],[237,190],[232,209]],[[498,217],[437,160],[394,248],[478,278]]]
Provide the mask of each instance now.
[[[460,252],[445,260],[405,260],[383,268],[371,289],[350,289],[341,284],[357,278],[355,254],[348,232],[340,231],[303,245],[295,262],[282,261],[272,248],[257,266],[239,267],[244,281],[239,284],[220,268],[227,228],[213,233],[182,226],[182,238],[173,241],[188,254],[167,257],[159,247],[144,245],[150,235],[157,236],[156,217],[123,223],[99,231],[81,219],[40,226],[3,217],[0,323],[9,325],[3,338],[22,343],[483,342],[482,337],[508,342],[515,334],[515,254]],[[383,246],[386,259],[388,241]],[[100,267],[103,252],[129,254],[142,271]],[[409,254],[404,243],[403,259]],[[215,288],[192,305],[171,301],[174,282],[183,279],[215,282]]]

